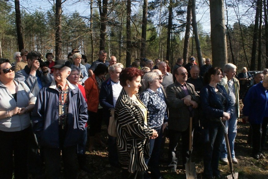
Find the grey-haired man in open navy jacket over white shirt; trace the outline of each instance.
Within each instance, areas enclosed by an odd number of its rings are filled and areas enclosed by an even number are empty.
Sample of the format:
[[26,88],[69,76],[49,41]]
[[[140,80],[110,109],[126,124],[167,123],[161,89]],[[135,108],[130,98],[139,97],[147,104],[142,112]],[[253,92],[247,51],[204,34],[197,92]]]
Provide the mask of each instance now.
[[[119,83],[119,74],[122,68],[114,64],[109,67],[110,78],[107,79],[101,85],[100,90],[100,105],[103,107],[103,118],[106,121],[107,126],[109,125],[110,109],[114,109],[118,96],[122,90],[122,86]],[[113,166],[119,166],[117,148],[116,148],[116,137],[108,135],[108,152],[109,152],[109,163]]]

